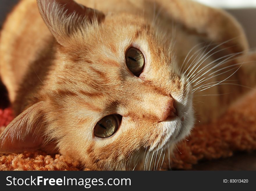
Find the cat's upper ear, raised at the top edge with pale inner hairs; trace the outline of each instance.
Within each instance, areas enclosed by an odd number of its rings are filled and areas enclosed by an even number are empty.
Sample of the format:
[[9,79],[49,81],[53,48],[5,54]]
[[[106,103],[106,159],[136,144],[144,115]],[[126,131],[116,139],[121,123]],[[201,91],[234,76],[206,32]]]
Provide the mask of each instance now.
[[59,44],[65,46],[73,33],[92,22],[100,23],[104,14],[73,0],[37,0],[39,12]]

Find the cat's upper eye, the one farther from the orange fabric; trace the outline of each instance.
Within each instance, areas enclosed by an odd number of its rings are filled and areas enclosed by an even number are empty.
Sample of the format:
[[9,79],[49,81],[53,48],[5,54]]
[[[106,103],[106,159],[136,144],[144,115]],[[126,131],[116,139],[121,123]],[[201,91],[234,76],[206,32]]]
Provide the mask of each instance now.
[[125,53],[125,62],[134,76],[140,76],[145,65],[145,59],[139,49],[134,47],[129,48]]

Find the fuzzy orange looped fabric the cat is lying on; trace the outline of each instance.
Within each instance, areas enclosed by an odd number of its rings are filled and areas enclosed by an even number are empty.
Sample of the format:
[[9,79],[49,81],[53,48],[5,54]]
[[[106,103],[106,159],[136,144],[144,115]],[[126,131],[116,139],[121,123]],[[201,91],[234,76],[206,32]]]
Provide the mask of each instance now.
[[[10,108],[0,110],[0,133],[11,119]],[[195,126],[187,140],[177,145],[171,158],[172,168],[190,169],[202,159],[229,157],[234,151],[255,150],[256,90],[233,104],[215,122]],[[168,167],[163,164],[163,169]],[[78,161],[59,154],[47,155],[42,151],[0,155],[0,170],[81,169]]]

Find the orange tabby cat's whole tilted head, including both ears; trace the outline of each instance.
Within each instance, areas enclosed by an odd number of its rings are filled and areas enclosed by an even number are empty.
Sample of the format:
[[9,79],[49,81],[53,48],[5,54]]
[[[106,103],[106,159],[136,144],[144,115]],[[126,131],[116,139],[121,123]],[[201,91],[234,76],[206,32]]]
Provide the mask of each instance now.
[[37,103],[1,135],[2,150],[54,140],[90,169],[133,169],[138,162],[152,168],[145,161],[183,139],[194,123],[191,84],[179,72],[172,28],[163,31],[143,14],[37,2],[56,54]]

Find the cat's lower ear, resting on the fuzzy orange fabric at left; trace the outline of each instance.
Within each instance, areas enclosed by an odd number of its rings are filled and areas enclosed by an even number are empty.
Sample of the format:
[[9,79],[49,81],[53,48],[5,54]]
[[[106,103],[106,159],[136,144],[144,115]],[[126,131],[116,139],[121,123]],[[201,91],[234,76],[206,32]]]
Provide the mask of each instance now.
[[[15,153],[45,148],[52,152],[52,142],[45,133],[44,101],[35,103],[18,115],[0,135],[0,153]],[[51,145],[48,145],[51,144]]]

